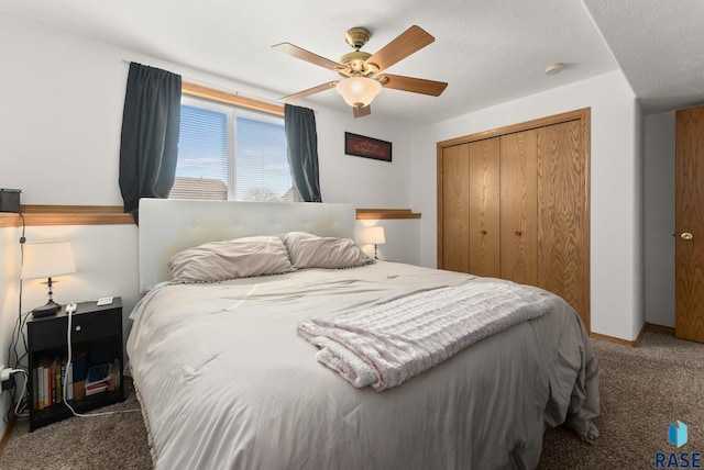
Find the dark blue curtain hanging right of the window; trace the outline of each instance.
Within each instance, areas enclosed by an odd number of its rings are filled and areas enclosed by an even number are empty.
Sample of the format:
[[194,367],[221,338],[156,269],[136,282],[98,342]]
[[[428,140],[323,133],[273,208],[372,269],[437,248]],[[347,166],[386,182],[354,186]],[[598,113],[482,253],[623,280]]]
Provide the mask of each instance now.
[[318,133],[314,111],[286,104],[284,130],[294,186],[304,201],[322,202],[318,176]]

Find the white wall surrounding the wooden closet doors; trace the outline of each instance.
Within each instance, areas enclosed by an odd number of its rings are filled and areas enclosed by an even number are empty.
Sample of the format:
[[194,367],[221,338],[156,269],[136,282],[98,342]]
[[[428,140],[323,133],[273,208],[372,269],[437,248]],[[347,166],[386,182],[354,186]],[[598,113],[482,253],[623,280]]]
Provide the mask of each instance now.
[[[549,77],[547,78],[549,79]],[[644,323],[640,111],[620,71],[526,97],[415,131],[411,205],[424,214],[420,262],[437,266],[436,144],[591,108],[591,326],[635,339]]]

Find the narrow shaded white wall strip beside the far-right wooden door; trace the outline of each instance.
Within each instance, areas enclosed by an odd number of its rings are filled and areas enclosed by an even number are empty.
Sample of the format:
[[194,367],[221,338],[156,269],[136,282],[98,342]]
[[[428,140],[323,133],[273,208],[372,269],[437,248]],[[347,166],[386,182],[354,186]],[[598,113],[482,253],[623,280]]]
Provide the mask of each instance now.
[[646,322],[674,327],[674,111],[646,118]]

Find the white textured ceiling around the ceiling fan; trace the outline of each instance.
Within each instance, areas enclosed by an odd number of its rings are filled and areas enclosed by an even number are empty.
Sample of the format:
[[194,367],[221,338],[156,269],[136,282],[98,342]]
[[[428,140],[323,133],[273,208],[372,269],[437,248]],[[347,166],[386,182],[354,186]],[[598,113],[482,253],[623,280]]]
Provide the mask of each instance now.
[[[364,51],[374,53],[418,24],[436,42],[387,71],[449,87],[439,98],[386,89],[372,104],[376,119],[417,127],[619,66],[647,111],[701,101],[704,64],[695,48],[704,44],[703,5],[698,0],[3,0],[0,14],[252,83],[270,99],[338,78],[272,45],[290,42],[338,60],[352,51],[343,37],[352,26],[372,32]],[[544,67],[554,61],[564,63],[564,71],[546,76]],[[349,110],[333,90],[300,104]]]

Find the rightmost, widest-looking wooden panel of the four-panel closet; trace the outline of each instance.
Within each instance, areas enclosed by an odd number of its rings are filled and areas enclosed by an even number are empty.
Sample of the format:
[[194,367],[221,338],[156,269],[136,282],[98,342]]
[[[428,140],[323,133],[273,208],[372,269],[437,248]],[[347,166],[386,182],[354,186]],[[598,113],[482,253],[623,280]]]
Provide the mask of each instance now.
[[562,296],[588,328],[587,166],[581,123],[537,130],[537,286]]

